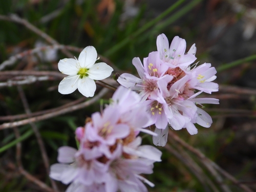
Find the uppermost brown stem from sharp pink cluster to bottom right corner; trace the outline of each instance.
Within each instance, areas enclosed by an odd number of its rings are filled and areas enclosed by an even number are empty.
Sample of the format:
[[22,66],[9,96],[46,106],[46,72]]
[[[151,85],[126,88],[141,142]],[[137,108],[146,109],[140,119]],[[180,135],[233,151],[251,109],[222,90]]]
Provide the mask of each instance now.
[[[234,177],[232,177],[230,174],[228,174],[225,170],[223,170],[217,164],[215,164],[210,159],[205,157],[204,154],[202,154],[199,150],[197,150],[196,148],[194,148],[193,146],[187,144],[185,141],[183,141],[181,138],[179,138],[179,136],[177,136],[175,133],[173,133],[173,131],[169,131],[168,139],[174,139],[175,141],[180,143],[182,146],[184,146],[187,150],[189,150],[190,152],[194,153],[201,160],[201,162],[204,163],[206,168],[210,172],[212,172],[214,174],[214,176],[216,176],[215,175],[216,174],[216,170],[215,169],[217,169],[223,176],[225,176],[226,178],[230,179],[230,181],[232,181],[234,184],[236,184],[237,186],[242,188],[244,191],[246,191],[246,192],[253,192],[249,187],[247,187],[246,185],[238,182]],[[216,167],[218,167],[218,168],[216,168]],[[224,175],[224,173],[225,173],[225,175]],[[222,186],[223,184],[222,184],[222,180],[220,180],[221,178],[218,177],[216,179],[218,179],[217,181],[219,181],[221,186]]]

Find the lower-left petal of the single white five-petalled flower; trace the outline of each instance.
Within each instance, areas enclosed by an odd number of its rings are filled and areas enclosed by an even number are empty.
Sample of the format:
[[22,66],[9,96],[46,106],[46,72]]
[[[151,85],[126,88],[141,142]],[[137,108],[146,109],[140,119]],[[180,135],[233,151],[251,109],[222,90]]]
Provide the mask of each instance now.
[[58,91],[61,94],[70,94],[77,89],[79,75],[69,75],[60,81]]

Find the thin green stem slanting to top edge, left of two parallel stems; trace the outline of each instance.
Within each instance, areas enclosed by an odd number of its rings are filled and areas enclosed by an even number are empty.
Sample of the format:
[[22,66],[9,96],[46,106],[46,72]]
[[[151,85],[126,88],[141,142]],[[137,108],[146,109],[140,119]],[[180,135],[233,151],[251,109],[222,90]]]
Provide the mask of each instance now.
[[153,19],[151,22],[148,22],[144,26],[142,26],[138,31],[134,32],[130,36],[127,36],[125,39],[123,39],[121,42],[119,42],[117,45],[109,49],[105,52],[104,56],[109,57],[111,54],[115,53],[117,50],[128,44],[133,38],[137,37],[144,31],[146,31],[148,28],[154,26],[159,20],[164,18],[166,15],[168,15],[170,12],[174,11],[177,7],[179,7],[185,0],[179,0],[174,5],[170,6],[168,9],[166,9],[162,14],[160,14],[158,17]]

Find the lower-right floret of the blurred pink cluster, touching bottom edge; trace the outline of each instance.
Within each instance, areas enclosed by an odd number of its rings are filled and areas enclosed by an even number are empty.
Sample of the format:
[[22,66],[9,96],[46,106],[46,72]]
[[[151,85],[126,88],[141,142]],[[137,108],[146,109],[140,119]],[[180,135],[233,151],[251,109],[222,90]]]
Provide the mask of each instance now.
[[146,192],[147,188],[141,181],[152,187],[154,184],[139,175],[152,174],[154,162],[146,158],[123,158],[122,146],[119,144],[108,162],[110,168],[106,177],[106,191],[116,192],[119,189],[122,192]]

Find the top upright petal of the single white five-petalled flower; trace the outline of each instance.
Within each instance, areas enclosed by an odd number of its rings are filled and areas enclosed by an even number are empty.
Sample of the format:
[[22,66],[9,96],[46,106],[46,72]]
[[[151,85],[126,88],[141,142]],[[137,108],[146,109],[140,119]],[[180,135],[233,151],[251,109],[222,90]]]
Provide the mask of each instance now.
[[81,68],[90,69],[97,59],[97,51],[93,46],[88,46],[82,50],[78,57]]

